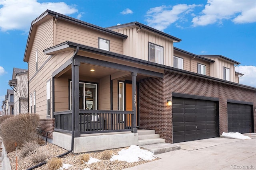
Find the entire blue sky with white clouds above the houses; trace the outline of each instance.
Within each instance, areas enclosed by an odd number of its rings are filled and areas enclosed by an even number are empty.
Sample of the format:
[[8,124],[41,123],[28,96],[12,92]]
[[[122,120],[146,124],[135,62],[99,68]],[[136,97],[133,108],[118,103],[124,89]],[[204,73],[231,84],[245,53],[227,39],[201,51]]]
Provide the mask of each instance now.
[[256,87],[255,0],[0,0],[0,105],[23,62],[31,21],[46,9],[101,27],[138,21],[182,39],[175,47],[240,62],[241,84]]

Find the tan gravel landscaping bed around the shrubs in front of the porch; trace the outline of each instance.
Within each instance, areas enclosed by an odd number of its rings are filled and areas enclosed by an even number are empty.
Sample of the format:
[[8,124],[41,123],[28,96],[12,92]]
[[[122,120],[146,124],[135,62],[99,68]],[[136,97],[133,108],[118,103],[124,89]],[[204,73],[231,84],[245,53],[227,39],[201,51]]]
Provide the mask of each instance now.
[[[46,151],[49,152],[51,158],[67,152],[67,150],[62,149],[51,143],[48,143],[47,145],[44,145],[44,146],[46,146]],[[124,148],[112,149],[112,152],[113,154],[118,155],[118,152],[122,149]],[[128,147],[125,149],[128,149]],[[89,154],[90,154],[90,157],[100,160],[101,153],[102,151],[90,152]],[[18,170],[26,170],[27,168],[30,168],[35,165],[35,163],[33,163],[28,156],[24,156],[24,157],[19,156],[20,155],[19,150],[17,150],[17,155],[18,155]],[[82,164],[80,161],[79,155],[80,154],[70,153],[61,158],[64,164],[72,165],[70,168],[68,168],[68,170],[84,170],[85,168],[90,168],[90,170],[121,170],[124,168],[129,168],[132,166],[137,166],[137,165],[152,161],[152,160],[140,160],[138,162],[129,163],[129,162],[118,161],[118,160],[114,160],[114,161],[100,160],[99,162],[95,162],[92,164]],[[16,169],[16,152],[13,151],[8,153],[8,158],[10,159],[12,170],[15,170]],[[154,160],[157,160],[157,159],[158,158],[155,158]],[[39,168],[36,168],[36,170],[46,170],[46,169],[48,169],[47,164]]]

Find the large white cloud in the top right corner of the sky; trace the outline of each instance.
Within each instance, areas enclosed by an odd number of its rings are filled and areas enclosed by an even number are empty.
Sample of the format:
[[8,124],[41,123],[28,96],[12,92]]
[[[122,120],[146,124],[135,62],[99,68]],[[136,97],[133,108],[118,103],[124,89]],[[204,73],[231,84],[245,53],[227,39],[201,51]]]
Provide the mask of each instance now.
[[208,0],[200,16],[192,19],[193,26],[222,24],[223,20],[234,23],[256,22],[256,3],[254,0]]

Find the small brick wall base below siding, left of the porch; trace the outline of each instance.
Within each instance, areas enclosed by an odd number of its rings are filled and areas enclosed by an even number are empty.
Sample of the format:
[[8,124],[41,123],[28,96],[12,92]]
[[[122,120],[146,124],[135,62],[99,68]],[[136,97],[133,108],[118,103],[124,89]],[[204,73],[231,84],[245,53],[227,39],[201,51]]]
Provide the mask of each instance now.
[[54,120],[55,119],[40,119],[40,126],[42,128],[42,135],[46,137],[46,133],[48,133],[48,138],[52,139],[52,132],[54,131]]

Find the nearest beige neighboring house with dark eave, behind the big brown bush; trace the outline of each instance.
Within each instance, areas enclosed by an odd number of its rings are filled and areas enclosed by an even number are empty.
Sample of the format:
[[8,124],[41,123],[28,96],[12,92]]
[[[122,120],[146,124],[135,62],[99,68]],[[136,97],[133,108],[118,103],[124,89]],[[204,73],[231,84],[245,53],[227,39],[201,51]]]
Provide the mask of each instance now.
[[14,115],[28,113],[28,70],[13,68],[9,85],[14,90]]

